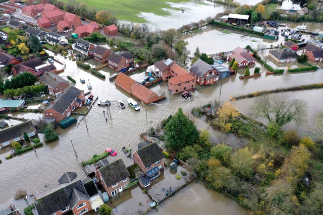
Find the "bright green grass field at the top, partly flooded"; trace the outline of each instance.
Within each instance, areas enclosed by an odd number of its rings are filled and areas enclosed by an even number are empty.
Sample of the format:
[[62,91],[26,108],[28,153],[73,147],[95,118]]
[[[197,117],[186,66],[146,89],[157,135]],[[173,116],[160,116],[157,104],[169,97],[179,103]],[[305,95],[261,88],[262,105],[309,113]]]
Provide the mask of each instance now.
[[[62,0],[69,3],[69,0]],[[160,16],[171,15],[170,12],[163,9],[170,9],[171,6],[167,4],[190,2],[190,0],[76,0],[81,3],[84,2],[88,6],[95,8],[96,11],[106,10],[112,13],[118,20],[126,20],[136,23],[144,23],[146,20],[138,15],[141,12],[153,13]],[[172,8],[174,9],[174,8]],[[182,10],[182,9],[175,9]]]

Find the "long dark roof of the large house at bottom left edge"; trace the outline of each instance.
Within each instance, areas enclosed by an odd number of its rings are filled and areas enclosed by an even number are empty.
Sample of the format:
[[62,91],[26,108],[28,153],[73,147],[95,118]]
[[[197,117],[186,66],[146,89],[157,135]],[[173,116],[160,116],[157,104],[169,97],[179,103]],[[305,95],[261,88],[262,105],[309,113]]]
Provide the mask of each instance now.
[[37,201],[34,204],[39,215],[49,215],[57,212],[71,204],[75,204],[77,199],[89,199],[81,180],[66,186],[63,185],[59,185],[53,192],[45,196],[41,196],[41,194],[37,196]]

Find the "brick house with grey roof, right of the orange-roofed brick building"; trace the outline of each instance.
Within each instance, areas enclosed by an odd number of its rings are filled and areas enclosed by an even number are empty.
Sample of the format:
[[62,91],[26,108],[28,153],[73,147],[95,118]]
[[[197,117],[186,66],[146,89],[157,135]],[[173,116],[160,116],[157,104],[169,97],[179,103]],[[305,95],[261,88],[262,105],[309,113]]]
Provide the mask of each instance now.
[[195,77],[199,85],[217,84],[219,80],[219,72],[217,69],[198,59],[190,68],[190,74]]

